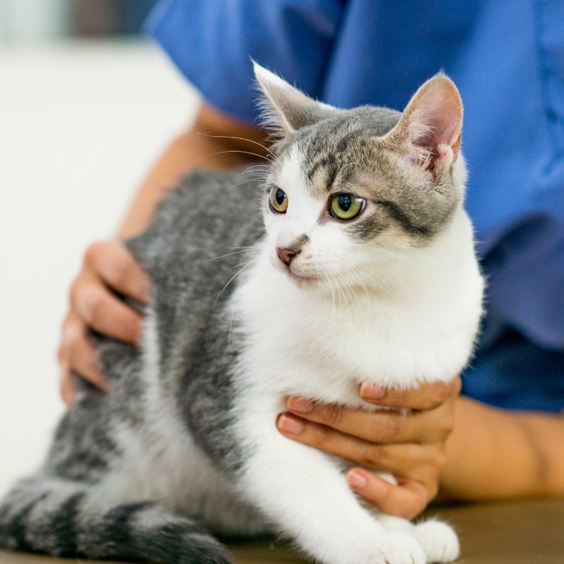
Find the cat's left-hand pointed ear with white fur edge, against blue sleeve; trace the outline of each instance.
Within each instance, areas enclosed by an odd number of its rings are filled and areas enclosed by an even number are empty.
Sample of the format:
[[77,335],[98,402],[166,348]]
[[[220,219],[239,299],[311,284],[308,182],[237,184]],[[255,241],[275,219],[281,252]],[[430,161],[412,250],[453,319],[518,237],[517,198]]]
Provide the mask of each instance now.
[[338,109],[307,97],[298,88],[253,61],[255,77],[264,99],[260,102],[264,125],[279,136],[312,125]]

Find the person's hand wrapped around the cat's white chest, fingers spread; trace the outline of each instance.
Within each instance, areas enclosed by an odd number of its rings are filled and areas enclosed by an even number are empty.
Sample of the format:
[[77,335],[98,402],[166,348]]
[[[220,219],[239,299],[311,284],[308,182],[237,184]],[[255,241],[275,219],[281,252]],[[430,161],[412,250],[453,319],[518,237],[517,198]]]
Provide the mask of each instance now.
[[[439,491],[460,387],[459,377],[450,385],[436,382],[405,391],[360,386],[364,401],[396,410],[363,411],[290,396],[277,426],[289,439],[360,465],[347,473],[353,490],[384,513],[412,519]],[[398,408],[410,411],[405,415]],[[398,484],[367,467],[392,474]]]

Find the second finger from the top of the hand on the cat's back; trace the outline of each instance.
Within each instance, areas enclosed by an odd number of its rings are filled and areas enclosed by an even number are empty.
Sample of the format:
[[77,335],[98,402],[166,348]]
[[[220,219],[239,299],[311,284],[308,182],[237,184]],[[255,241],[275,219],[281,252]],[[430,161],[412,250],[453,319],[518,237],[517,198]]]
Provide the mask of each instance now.
[[142,317],[114,298],[105,288],[95,284],[83,286],[73,305],[94,331],[125,343],[140,343]]

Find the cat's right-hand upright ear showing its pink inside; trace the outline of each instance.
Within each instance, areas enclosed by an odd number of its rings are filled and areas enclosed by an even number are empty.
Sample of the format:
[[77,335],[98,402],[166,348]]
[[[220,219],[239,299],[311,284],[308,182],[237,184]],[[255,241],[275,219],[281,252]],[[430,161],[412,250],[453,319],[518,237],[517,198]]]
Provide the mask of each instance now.
[[461,130],[460,94],[454,82],[439,73],[415,92],[381,142],[437,180],[458,158]]

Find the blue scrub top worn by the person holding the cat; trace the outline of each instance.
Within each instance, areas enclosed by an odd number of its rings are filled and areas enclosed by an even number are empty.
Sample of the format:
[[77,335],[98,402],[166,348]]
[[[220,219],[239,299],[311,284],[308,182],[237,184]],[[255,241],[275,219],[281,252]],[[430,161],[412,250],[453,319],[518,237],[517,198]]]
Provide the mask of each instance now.
[[147,26],[207,102],[248,121],[250,57],[343,108],[403,109],[446,71],[489,286],[463,392],[563,410],[564,1],[165,0]]

